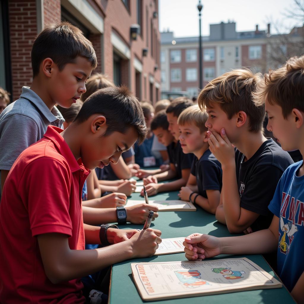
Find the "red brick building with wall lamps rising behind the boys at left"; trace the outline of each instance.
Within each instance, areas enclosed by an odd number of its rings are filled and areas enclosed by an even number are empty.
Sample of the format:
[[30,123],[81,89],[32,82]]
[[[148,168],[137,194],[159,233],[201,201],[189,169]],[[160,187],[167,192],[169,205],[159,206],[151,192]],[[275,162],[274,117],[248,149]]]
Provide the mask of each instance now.
[[128,85],[140,100],[160,98],[158,0],[2,0],[0,16],[0,86],[12,93],[12,101],[31,84],[36,35],[60,20],[92,41],[96,72]]

